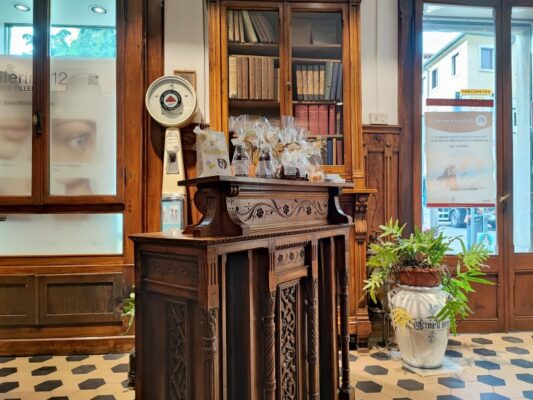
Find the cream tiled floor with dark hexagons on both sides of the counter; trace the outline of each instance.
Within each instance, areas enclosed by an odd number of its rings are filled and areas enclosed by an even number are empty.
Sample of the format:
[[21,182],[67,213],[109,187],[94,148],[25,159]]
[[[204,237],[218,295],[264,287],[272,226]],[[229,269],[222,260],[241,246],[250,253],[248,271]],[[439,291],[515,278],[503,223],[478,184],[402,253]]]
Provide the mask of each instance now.
[[[533,400],[533,333],[460,335],[447,355],[465,371],[423,378],[383,349],[354,352],[356,399]],[[127,371],[126,354],[0,357],[0,400],[133,400]]]

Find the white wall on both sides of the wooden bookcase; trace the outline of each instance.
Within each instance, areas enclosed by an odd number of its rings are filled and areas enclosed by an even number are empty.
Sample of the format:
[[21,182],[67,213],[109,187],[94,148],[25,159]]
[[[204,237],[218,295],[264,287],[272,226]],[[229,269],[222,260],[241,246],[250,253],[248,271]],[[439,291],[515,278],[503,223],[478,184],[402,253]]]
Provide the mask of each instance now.
[[[204,46],[203,1],[165,0],[165,74],[175,69],[196,70],[198,107],[209,119],[209,63]],[[398,123],[398,7],[397,0],[362,0],[361,57],[363,123],[369,113],[386,113]],[[205,33],[207,42],[207,32]],[[197,116],[197,121],[199,121]]]

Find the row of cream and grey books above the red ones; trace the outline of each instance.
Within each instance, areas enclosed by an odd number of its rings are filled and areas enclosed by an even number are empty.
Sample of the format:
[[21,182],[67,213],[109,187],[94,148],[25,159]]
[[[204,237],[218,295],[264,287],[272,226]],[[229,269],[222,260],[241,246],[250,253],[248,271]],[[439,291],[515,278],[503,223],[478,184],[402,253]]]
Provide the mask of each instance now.
[[298,100],[342,99],[342,63],[296,65],[296,98]]

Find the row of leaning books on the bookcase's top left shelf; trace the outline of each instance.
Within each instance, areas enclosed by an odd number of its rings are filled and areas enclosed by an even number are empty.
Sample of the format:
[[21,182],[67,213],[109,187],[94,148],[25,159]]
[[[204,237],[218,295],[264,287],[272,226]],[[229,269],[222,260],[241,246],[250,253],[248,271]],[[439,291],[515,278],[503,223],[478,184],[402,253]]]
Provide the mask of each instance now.
[[264,13],[228,10],[228,40],[233,43],[277,43],[278,33]]

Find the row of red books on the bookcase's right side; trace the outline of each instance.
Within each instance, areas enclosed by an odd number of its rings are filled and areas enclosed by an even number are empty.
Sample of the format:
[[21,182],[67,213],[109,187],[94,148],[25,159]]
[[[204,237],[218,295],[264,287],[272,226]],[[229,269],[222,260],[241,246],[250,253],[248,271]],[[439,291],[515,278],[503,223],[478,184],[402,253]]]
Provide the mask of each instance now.
[[296,104],[294,118],[311,136],[342,135],[342,109],[334,104]]

